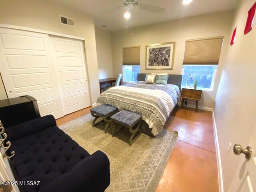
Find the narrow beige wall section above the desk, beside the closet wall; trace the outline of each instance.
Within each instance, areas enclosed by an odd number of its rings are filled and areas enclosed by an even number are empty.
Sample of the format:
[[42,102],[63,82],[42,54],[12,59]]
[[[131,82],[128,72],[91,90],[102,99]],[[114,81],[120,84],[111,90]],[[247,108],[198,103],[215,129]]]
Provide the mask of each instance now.
[[99,78],[112,78],[111,32],[95,26]]

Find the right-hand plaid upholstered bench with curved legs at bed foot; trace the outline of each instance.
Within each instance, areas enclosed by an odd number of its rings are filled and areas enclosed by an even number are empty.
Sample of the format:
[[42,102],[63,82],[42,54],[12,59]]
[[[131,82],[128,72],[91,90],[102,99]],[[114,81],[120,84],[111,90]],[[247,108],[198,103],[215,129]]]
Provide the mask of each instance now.
[[[112,120],[112,124],[114,126],[114,128],[112,129],[112,136],[114,136],[123,127],[129,128],[130,133],[132,133],[129,140],[129,146],[131,146],[134,141],[136,141],[140,136],[140,125],[142,120],[141,114],[131,112],[129,110],[122,110],[112,115],[110,119]],[[122,126],[119,126],[118,128],[117,124],[120,124]]]

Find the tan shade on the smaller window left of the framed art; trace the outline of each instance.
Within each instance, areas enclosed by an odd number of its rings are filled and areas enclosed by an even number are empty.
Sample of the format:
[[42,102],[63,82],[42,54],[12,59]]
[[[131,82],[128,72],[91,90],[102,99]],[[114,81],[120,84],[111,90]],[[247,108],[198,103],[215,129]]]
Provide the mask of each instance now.
[[140,47],[123,48],[123,65],[140,65]]

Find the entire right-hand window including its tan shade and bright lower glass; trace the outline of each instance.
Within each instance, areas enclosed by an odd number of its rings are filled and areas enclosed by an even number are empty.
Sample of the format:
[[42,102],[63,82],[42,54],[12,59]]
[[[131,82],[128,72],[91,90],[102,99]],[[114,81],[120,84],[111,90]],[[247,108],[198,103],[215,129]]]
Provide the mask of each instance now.
[[212,91],[220,59],[223,37],[186,40],[182,87]]

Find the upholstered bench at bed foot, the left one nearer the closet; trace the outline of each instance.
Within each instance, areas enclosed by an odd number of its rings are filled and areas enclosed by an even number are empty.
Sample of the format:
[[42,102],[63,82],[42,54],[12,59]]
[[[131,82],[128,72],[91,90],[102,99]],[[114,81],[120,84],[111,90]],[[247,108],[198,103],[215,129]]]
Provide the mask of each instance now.
[[90,112],[92,116],[95,117],[94,120],[92,121],[92,127],[98,124],[98,122],[95,123],[96,120],[102,117],[103,120],[107,123],[105,126],[105,133],[107,133],[112,128],[112,126],[110,126],[111,125],[110,116],[118,112],[118,109],[112,105],[102,104],[100,106],[92,108]]

